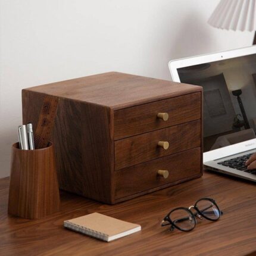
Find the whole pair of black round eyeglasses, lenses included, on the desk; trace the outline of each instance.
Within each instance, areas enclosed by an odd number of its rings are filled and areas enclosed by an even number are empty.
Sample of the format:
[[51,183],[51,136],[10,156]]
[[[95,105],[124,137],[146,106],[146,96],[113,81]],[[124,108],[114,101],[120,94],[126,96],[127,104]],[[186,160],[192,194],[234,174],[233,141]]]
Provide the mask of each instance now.
[[[195,210],[195,213],[192,212]],[[201,198],[189,208],[175,208],[164,217],[161,226],[171,225],[170,230],[175,228],[181,231],[191,231],[196,226],[196,217],[202,220],[202,217],[207,220],[216,221],[223,214],[218,208],[216,201],[211,198]]]

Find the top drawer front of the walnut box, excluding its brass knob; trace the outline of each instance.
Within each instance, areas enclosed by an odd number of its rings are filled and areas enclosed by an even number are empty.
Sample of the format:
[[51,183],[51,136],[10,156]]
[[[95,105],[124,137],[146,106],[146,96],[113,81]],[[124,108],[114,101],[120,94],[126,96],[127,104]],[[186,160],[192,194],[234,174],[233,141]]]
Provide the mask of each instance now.
[[[167,113],[168,120],[158,117]],[[201,118],[201,92],[114,111],[114,139],[122,139]],[[166,119],[166,118],[164,118]]]

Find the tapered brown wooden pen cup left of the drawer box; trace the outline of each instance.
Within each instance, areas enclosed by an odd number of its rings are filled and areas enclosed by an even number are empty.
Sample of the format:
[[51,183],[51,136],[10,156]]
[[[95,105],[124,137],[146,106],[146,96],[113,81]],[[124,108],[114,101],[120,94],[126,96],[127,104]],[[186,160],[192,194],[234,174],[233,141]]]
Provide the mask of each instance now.
[[23,150],[14,143],[8,213],[42,218],[60,210],[60,193],[52,143],[42,149]]

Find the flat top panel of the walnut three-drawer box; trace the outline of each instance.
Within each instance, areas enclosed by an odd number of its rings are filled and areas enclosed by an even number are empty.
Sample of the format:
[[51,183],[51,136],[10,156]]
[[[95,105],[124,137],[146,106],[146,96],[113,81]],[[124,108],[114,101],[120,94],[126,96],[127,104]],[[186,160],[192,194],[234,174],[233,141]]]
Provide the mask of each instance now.
[[118,72],[96,74],[27,89],[58,98],[92,102],[113,110],[202,90],[201,86]]

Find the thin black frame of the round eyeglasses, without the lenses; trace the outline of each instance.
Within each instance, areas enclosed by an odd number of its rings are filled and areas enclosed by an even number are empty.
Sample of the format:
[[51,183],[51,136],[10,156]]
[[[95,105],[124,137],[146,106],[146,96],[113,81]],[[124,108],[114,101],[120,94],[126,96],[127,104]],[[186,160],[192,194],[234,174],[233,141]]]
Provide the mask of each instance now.
[[[211,218],[208,218],[207,216],[205,216],[195,205],[199,202],[199,201],[202,201],[202,200],[208,200],[208,201],[211,201],[216,207],[217,207],[217,210],[218,210],[218,213],[219,213],[219,216],[218,218],[216,218],[216,220],[213,220]],[[196,213],[193,213],[191,211],[191,208],[195,209],[196,210]],[[173,211],[176,211],[176,210],[185,210],[189,213],[190,216],[192,216],[193,220],[194,220],[194,223],[195,225],[192,227],[192,229],[181,229],[179,226],[177,226],[174,221],[171,220],[171,218],[169,217],[171,213],[173,213]],[[205,209],[206,210],[206,209]],[[186,207],[177,207],[177,208],[174,208],[173,210],[171,210],[167,215],[166,217],[164,217],[162,223],[161,223],[161,226],[164,227],[164,226],[168,226],[168,225],[171,225],[170,227],[170,230],[173,231],[174,228],[176,229],[179,229],[180,231],[184,231],[184,232],[189,232],[191,230],[193,230],[197,224],[196,222],[196,217],[200,218],[202,220],[202,217],[206,218],[207,220],[211,220],[211,221],[217,221],[220,219],[220,216],[223,215],[223,211],[220,210],[220,208],[218,207],[216,201],[212,198],[200,198],[198,199],[198,201],[195,202],[194,205],[191,205],[189,208],[186,208]],[[182,219],[181,219],[182,220]],[[164,224],[163,222],[164,221],[168,221],[167,224]]]

